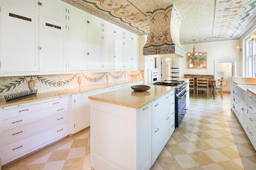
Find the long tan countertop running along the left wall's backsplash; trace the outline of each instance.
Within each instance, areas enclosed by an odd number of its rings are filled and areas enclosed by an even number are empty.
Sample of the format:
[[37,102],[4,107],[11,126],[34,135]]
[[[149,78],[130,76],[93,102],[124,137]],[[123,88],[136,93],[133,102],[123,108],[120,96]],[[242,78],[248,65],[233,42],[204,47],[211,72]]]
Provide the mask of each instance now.
[[7,107],[7,106],[14,106],[19,104],[26,104],[29,102],[37,102],[41,100],[47,100],[51,98],[57,98],[57,97],[63,97],[83,92],[90,92],[92,90],[100,90],[104,88],[109,88],[112,86],[118,86],[122,84],[129,84],[132,82],[138,82],[142,80],[136,80],[136,81],[126,81],[126,82],[112,82],[108,84],[97,84],[92,86],[84,86],[84,87],[78,87],[78,88],[71,88],[71,89],[65,89],[65,90],[55,90],[51,92],[43,92],[43,93],[37,93],[36,96],[30,96],[28,98],[20,99],[14,102],[6,102],[5,98],[0,98],[0,107]]

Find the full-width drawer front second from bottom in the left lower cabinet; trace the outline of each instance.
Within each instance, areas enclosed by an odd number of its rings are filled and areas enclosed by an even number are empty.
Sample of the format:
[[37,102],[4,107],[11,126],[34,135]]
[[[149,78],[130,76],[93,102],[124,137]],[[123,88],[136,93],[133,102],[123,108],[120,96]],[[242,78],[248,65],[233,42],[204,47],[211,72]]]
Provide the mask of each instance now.
[[3,133],[3,143],[9,143],[11,141],[19,140],[29,135],[38,133],[44,129],[52,127],[54,125],[58,125],[68,121],[68,112],[62,113],[59,115],[55,115],[52,117],[48,117],[46,119],[42,119],[40,121],[36,121],[34,123],[29,123],[27,125],[17,127],[14,129],[10,129],[8,131],[4,131]]

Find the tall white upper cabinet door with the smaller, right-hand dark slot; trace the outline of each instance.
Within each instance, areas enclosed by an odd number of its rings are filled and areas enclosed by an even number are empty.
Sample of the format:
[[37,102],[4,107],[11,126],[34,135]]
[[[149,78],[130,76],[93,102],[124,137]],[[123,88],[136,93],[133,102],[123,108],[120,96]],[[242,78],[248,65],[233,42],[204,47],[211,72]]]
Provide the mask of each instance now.
[[63,22],[39,16],[40,71],[65,71]]

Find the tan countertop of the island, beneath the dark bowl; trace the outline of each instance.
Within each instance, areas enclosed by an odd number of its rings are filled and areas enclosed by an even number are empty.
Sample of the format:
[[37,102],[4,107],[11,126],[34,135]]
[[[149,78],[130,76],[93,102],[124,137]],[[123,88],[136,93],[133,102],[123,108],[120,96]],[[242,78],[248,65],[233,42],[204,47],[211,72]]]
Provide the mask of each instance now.
[[132,88],[123,88],[112,92],[89,96],[91,100],[132,107],[140,109],[157,98],[175,89],[175,86],[156,86],[148,84],[151,88],[145,92],[134,92]]

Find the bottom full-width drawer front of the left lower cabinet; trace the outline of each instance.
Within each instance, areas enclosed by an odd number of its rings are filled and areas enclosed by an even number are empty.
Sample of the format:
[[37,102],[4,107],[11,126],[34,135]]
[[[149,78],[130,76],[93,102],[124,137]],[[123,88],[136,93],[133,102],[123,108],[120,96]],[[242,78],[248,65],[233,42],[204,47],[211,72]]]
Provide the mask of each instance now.
[[56,140],[56,138],[61,137],[62,135],[68,135],[67,122],[56,127],[52,127],[51,129],[42,131],[40,133],[36,133],[19,141],[15,141],[13,143],[5,145],[3,147],[3,152],[5,154],[3,154],[2,161],[4,162],[11,158],[14,158],[15,156],[20,157],[24,154],[32,152],[33,150],[36,150],[34,148],[39,147],[40,145],[42,145],[40,147],[43,147],[44,143],[49,141],[53,142]]

